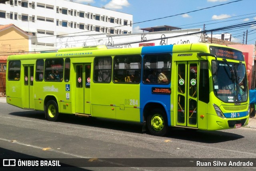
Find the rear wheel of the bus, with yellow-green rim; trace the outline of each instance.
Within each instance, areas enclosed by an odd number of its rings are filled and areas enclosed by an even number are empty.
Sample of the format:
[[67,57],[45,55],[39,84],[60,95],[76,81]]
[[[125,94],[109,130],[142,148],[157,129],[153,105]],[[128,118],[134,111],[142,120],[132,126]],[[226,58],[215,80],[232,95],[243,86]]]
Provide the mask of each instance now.
[[49,100],[46,103],[46,117],[49,121],[56,121],[58,119],[59,111],[58,105],[54,100]]

